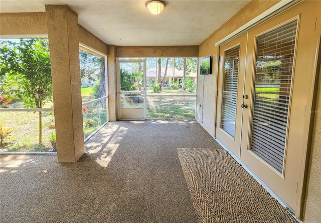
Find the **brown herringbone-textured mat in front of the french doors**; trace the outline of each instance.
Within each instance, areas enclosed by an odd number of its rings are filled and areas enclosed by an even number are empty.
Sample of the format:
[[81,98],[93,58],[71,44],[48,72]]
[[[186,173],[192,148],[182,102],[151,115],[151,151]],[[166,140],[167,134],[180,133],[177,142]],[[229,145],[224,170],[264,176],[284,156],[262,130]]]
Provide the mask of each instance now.
[[199,222],[297,222],[226,150],[178,155]]

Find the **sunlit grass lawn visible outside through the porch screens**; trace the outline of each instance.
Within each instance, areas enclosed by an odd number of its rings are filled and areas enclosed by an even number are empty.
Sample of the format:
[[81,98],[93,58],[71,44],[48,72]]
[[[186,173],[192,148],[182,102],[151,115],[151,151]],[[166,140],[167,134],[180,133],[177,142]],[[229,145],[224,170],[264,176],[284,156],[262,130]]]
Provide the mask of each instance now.
[[[83,101],[94,99],[91,95],[93,87],[83,87]],[[147,118],[195,118],[195,100],[196,97],[179,97],[169,96],[171,94],[193,93],[181,90],[164,90],[155,93],[149,90],[147,94]],[[166,95],[166,96],[164,96]],[[132,104],[143,105],[142,100],[138,103],[137,99],[132,98]],[[49,102],[45,107],[52,107]],[[88,105],[87,113],[83,114],[84,138],[91,134],[95,129],[106,122],[106,108],[103,100],[96,101]],[[23,107],[21,101],[13,103],[12,107]],[[52,148],[50,142],[51,134],[55,133],[53,125],[53,112],[42,112],[42,144],[38,144],[39,139],[39,113],[26,111],[2,111],[0,112],[0,120],[4,125],[4,129],[12,130],[11,137],[4,140],[4,146],[0,147],[0,151],[48,151]]]

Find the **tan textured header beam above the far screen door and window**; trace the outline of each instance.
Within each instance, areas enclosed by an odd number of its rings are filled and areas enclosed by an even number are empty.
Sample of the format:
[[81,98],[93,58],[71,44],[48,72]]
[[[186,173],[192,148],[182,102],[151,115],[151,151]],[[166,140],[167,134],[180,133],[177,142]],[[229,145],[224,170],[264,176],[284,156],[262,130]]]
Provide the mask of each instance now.
[[117,46],[116,57],[197,57],[198,45],[189,46]]

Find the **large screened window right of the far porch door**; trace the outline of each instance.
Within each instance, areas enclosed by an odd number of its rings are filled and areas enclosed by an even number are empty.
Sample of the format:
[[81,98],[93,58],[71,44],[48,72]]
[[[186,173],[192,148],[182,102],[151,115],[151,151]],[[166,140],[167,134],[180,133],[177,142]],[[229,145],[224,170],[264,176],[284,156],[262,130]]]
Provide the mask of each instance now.
[[147,118],[195,118],[197,58],[147,58]]

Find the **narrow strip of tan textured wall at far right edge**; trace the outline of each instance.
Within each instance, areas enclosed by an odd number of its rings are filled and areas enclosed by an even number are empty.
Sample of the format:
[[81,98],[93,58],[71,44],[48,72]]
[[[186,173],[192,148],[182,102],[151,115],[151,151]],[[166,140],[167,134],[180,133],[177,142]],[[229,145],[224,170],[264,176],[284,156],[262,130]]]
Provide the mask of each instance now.
[[304,222],[321,222],[321,71],[314,112],[314,126],[304,207]]

